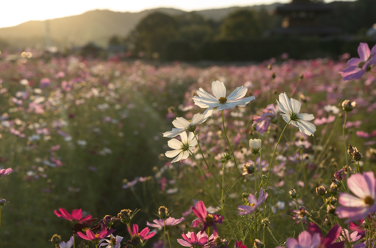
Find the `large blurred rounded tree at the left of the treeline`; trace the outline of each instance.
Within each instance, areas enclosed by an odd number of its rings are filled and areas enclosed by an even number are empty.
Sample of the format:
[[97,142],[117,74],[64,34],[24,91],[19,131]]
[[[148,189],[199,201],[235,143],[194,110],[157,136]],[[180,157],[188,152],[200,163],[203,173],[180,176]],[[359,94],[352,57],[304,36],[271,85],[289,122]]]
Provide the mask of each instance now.
[[163,57],[168,42],[177,37],[175,19],[160,12],[154,12],[139,22],[127,38],[134,53],[144,52],[147,58]]

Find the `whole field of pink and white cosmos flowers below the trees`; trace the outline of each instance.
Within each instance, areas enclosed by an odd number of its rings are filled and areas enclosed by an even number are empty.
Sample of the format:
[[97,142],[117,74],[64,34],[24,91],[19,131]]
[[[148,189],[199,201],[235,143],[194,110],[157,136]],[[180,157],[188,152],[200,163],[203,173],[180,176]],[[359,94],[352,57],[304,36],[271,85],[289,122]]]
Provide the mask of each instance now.
[[359,47],[210,66],[3,53],[0,247],[374,247],[376,49]]

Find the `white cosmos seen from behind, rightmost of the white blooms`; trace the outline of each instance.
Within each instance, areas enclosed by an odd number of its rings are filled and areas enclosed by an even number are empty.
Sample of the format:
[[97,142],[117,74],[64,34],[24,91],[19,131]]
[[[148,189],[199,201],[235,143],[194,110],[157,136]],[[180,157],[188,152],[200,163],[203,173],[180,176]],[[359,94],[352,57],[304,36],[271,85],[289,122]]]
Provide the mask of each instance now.
[[290,122],[290,124],[298,127],[300,132],[313,136],[316,131],[316,126],[308,122],[308,120],[313,120],[315,117],[313,114],[299,114],[302,103],[293,98],[288,100],[286,93],[279,94],[279,102],[277,100],[277,103],[280,111],[284,113],[280,115],[285,122]]

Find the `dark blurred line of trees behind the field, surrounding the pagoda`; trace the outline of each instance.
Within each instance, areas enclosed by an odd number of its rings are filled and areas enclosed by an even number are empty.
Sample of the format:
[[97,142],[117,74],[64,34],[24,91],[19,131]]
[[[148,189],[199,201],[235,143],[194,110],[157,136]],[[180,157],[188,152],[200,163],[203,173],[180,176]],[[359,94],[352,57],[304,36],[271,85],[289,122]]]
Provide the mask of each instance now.
[[320,16],[318,21],[323,26],[340,28],[343,34],[357,35],[355,41],[269,35],[271,29],[280,27],[282,16],[265,9],[241,8],[221,21],[206,20],[195,12],[174,17],[154,12],[141,20],[127,37],[112,37],[109,44],[125,44],[133,57],[167,60],[260,61],[285,52],[297,59],[336,58],[346,51],[356,52],[359,39],[364,41],[365,31],[376,23],[376,1],[329,5],[334,12]]

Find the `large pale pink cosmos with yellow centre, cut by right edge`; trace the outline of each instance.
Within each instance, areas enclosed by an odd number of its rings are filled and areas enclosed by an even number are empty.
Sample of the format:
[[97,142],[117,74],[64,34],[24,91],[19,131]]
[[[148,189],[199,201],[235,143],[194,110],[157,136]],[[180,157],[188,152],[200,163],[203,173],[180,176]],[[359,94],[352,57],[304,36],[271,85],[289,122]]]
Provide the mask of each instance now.
[[356,196],[340,193],[338,202],[342,206],[336,210],[339,218],[347,218],[346,222],[357,221],[376,211],[376,180],[373,172],[351,175],[347,179],[347,186]]

